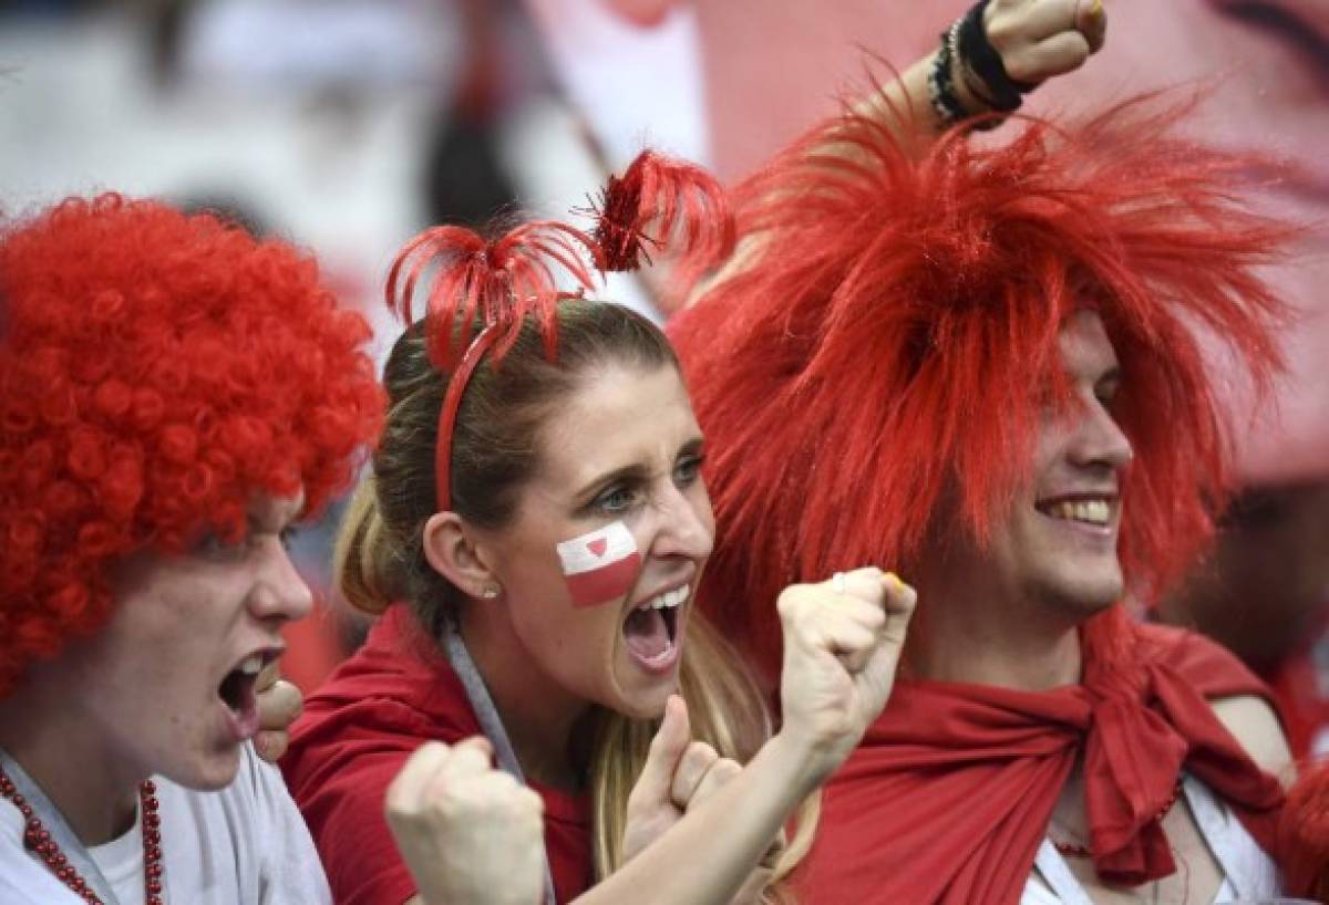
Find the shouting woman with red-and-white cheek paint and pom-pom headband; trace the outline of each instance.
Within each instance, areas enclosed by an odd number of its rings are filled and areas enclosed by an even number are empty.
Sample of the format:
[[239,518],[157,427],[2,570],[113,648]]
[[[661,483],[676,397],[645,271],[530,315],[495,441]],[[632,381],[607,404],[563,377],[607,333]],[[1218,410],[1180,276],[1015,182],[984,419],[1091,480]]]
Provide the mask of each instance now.
[[[642,182],[678,186],[645,208],[715,200],[703,174],[650,155],[625,179]],[[629,309],[556,289],[556,267],[589,288],[585,259],[633,256],[615,239],[633,245],[634,227],[611,232],[440,227],[393,268],[408,316],[439,264],[387,362],[387,425],[339,557],[352,602],[384,616],[310,698],[284,764],[339,901],[455,905],[456,874],[494,847],[477,817],[449,823],[449,796],[496,786],[509,831],[538,831],[542,808],[549,870],[517,867],[538,844],[508,845],[502,888],[476,901],[526,901],[533,873],[558,902],[727,902],[889,694],[913,593],[876,569],[791,588],[768,738],[740,660],[691,606],[714,522],[674,353]],[[490,751],[538,796],[489,774]]]

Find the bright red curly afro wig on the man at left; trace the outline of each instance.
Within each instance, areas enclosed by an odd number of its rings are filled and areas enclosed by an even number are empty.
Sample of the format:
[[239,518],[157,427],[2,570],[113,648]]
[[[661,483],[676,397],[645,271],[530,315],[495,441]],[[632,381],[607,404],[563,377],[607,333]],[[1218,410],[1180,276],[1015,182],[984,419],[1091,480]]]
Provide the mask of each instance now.
[[381,415],[369,328],[314,260],[108,194],[0,232],[0,697],[96,632],[108,565],[318,512]]

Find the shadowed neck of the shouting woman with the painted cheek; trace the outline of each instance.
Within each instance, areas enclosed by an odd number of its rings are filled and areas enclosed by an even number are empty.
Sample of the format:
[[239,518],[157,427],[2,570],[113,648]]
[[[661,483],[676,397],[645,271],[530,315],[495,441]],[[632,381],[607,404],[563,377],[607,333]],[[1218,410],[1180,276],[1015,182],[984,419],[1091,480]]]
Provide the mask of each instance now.
[[[526,779],[562,790],[582,784],[585,764],[578,730],[591,705],[562,689],[536,662],[518,653],[520,641],[498,606],[470,606],[461,618],[476,669],[489,689],[508,740]],[[538,689],[538,693],[532,693]]]

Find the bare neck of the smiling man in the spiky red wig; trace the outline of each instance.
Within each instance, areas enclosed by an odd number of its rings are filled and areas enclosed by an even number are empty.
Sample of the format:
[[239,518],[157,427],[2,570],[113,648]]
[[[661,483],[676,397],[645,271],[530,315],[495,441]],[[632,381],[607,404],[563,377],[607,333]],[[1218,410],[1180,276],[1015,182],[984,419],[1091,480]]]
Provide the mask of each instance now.
[[909,667],[918,678],[1046,691],[1080,681],[1079,620],[944,573],[918,584]]

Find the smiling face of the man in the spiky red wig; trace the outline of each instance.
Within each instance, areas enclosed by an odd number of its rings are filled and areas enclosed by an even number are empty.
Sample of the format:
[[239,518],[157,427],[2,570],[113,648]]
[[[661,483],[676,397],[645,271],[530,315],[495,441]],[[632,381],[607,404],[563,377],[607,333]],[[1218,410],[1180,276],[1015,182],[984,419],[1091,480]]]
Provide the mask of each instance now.
[[948,549],[945,568],[964,575],[973,593],[1053,608],[1078,622],[1124,589],[1116,544],[1131,445],[1112,419],[1120,374],[1098,314],[1073,314],[1059,346],[1070,406],[1043,413],[1030,479],[994,524],[990,547]]

